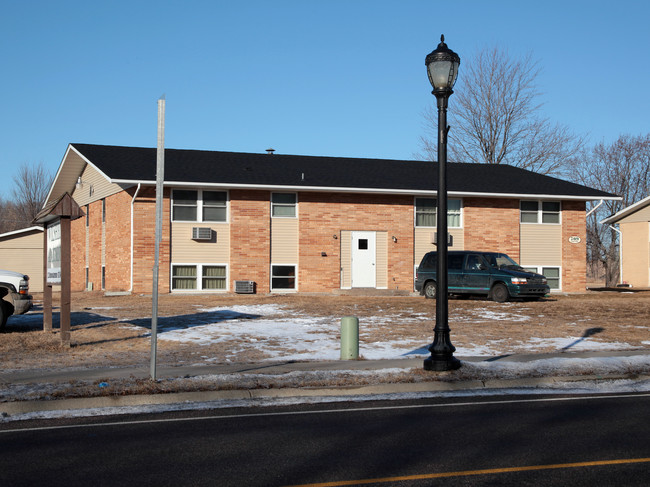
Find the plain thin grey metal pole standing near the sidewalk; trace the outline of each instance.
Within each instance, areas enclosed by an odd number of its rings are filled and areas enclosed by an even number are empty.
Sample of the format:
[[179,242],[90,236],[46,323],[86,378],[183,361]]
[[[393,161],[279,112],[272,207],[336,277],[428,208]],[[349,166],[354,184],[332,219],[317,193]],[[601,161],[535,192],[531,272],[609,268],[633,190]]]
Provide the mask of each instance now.
[[165,95],[158,99],[158,148],[156,150],[156,248],[151,292],[151,380],[156,380],[156,353],[158,349],[158,268],[162,240],[163,183],[165,181]]

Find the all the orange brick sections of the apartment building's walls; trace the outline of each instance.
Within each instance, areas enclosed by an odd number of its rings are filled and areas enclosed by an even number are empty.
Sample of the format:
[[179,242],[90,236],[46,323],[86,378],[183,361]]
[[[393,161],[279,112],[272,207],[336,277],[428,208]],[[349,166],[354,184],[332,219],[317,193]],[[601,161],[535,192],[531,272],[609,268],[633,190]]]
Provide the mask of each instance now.
[[[136,187],[83,206],[86,218],[72,222],[72,289],[85,289],[85,269],[94,289],[101,286],[101,267],[106,266],[106,290],[151,293],[155,248],[155,189]],[[170,292],[171,200],[165,190],[163,237],[160,249],[159,291]],[[229,283],[252,279],[257,292],[270,292],[271,192],[229,191]],[[133,244],[131,211],[133,210]],[[463,199],[464,248],[495,250],[520,258],[519,200],[505,198]],[[382,232],[386,238],[387,288],[413,289],[415,247],[414,198],[412,196],[353,193],[298,193],[297,290],[333,292],[341,288],[341,234],[349,231]],[[379,235],[379,234],[378,234]],[[579,243],[569,237],[579,236]],[[336,238],[335,238],[336,237]],[[392,237],[395,237],[393,240]],[[573,239],[575,240],[575,239]],[[131,288],[131,246],[133,285]],[[562,204],[562,288],[585,289],[585,203]],[[198,263],[198,262],[197,262]]]

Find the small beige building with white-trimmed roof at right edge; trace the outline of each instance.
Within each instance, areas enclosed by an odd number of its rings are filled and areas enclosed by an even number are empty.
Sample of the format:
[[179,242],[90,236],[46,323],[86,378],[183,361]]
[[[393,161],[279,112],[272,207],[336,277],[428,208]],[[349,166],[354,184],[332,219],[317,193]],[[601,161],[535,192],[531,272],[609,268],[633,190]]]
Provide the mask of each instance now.
[[650,196],[605,218],[601,223],[618,224],[621,284],[650,287]]

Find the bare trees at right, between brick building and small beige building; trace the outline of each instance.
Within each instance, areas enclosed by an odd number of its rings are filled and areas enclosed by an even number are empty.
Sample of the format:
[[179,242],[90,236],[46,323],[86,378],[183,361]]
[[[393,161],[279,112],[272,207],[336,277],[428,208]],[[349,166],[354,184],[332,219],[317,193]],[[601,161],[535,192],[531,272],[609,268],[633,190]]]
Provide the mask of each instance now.
[[650,193],[650,134],[622,135],[612,144],[597,144],[582,152],[575,168],[578,182],[622,198],[604,201],[587,219],[587,262],[592,269],[603,269],[611,286],[619,278],[618,231],[599,222]]

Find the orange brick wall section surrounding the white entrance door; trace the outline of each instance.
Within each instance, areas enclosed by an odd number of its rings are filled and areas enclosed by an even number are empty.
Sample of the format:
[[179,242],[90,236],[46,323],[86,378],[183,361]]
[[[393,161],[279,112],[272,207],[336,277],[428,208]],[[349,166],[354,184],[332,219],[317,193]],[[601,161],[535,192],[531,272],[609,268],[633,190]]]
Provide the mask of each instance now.
[[413,197],[300,193],[298,201],[300,291],[341,287],[341,231],[388,232],[388,288],[413,288]]

